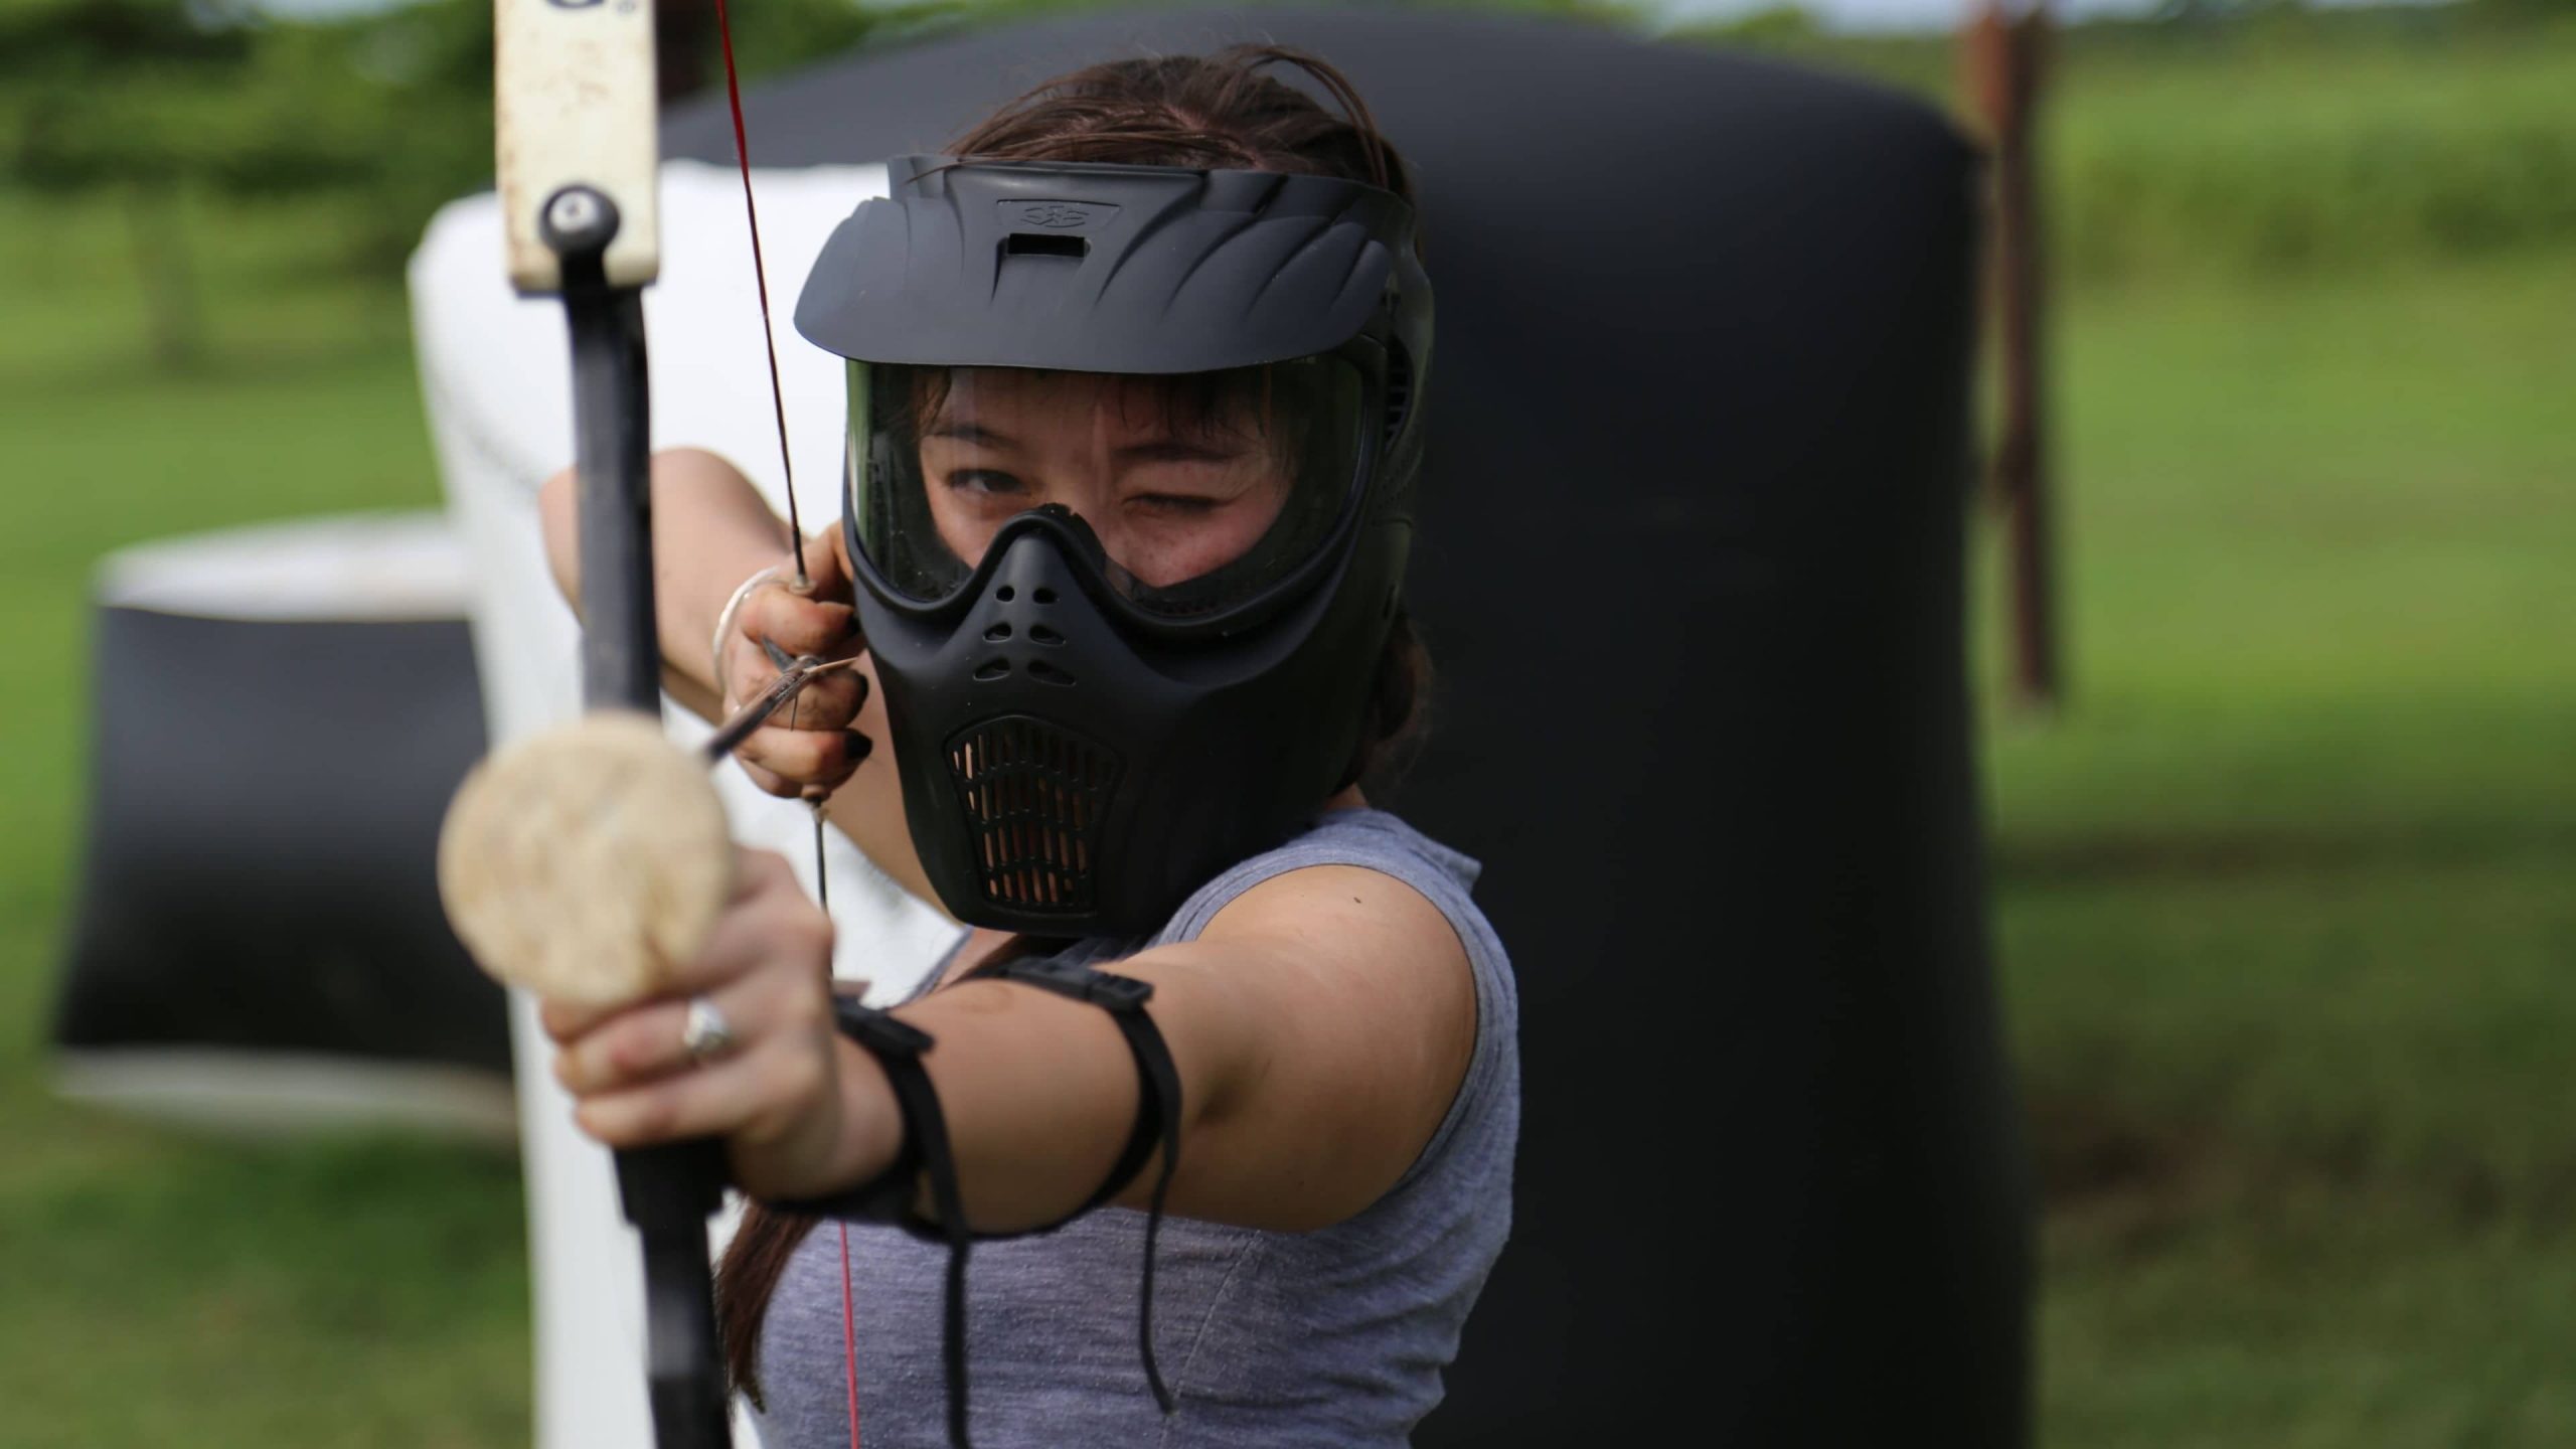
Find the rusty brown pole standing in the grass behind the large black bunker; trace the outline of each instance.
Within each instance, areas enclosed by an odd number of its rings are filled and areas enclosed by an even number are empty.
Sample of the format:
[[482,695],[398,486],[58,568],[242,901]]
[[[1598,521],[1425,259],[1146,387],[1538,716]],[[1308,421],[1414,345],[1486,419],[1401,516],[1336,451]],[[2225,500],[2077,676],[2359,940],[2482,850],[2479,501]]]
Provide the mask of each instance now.
[[2002,420],[1991,487],[2004,513],[2012,694],[2030,709],[2053,709],[2063,694],[2045,446],[2045,271],[2030,147],[2045,54],[2048,0],[2027,0],[2020,8],[2009,0],[1981,0],[1960,46],[1963,90],[1994,157],[1989,286],[1999,340]]

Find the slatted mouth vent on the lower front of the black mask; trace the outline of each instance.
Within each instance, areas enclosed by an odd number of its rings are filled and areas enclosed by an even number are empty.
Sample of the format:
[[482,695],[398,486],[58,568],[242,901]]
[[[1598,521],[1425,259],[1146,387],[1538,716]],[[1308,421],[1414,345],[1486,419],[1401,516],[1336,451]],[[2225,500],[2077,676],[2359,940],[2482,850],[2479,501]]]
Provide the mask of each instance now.
[[1007,714],[948,743],[948,779],[974,833],[984,900],[1030,913],[1092,910],[1092,859],[1118,755]]

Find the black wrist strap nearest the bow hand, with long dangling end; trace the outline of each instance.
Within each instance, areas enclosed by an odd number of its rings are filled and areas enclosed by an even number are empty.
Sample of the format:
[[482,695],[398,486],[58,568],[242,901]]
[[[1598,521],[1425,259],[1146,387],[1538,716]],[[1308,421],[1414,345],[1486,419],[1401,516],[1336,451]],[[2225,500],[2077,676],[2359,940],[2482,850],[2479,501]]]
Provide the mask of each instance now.
[[930,1085],[930,1070],[922,1067],[922,1055],[938,1042],[920,1026],[848,995],[832,1003],[832,1016],[840,1021],[842,1036],[858,1042],[876,1057],[876,1065],[886,1067],[894,1106],[904,1116],[904,1147],[894,1168],[876,1181],[832,1199],[786,1207],[829,1217],[902,1222],[920,1230],[920,1220],[912,1217],[914,1173],[930,1173],[930,1201],[940,1212],[938,1227],[948,1243],[948,1302],[940,1323],[940,1348],[948,1361],[948,1444],[971,1449],[966,1441],[966,1256],[974,1248],[974,1232],[966,1227],[966,1201],[958,1194],[958,1160],[948,1150],[948,1116],[940,1114],[940,1093]]

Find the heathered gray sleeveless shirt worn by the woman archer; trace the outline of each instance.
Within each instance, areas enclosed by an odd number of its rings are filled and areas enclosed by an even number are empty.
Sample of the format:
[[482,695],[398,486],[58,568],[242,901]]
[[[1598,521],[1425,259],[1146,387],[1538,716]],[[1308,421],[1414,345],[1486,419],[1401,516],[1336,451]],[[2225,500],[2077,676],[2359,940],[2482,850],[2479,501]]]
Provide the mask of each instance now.
[[[1394,815],[1345,810],[1200,887],[1151,938],[1077,941],[1108,967],[1190,941],[1236,895],[1301,866],[1368,866],[1448,915],[1476,972],[1476,1055],[1422,1158],[1358,1217],[1316,1232],[1164,1220],[1154,1346],[1180,1400],[1154,1405],[1136,1346],[1144,1214],[1110,1207],[1041,1238],[976,1243],[966,1274],[969,1428],[984,1449],[1386,1446],[1440,1403],[1476,1292],[1512,1222],[1520,1018],[1510,962],[1468,900],[1476,861]],[[765,1449],[845,1449],[840,1225],[817,1227],[760,1343]],[[868,1449],[948,1444],[940,1292],[948,1250],[848,1225],[858,1431]]]

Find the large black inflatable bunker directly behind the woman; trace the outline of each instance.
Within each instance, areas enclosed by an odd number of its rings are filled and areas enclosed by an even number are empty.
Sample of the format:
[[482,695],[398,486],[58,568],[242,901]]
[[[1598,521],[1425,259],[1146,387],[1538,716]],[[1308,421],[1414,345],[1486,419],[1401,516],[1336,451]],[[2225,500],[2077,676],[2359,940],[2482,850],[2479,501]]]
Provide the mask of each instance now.
[[[1437,291],[1396,807],[1522,990],[1517,1225],[1419,1444],[2027,1439],[2030,1199],[1960,660],[1976,157],[1602,28],[1157,13],[817,64],[757,165],[933,152],[1115,54],[1314,49]],[[732,162],[721,98],[672,155]]]

